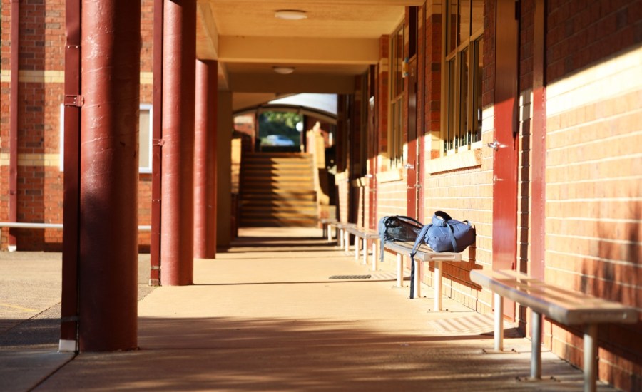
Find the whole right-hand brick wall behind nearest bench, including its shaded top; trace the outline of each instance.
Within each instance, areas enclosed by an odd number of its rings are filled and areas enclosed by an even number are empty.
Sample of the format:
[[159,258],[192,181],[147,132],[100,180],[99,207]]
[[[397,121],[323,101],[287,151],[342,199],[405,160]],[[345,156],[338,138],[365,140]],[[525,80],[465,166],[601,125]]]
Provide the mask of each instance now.
[[[551,1],[546,31],[546,280],[642,307],[642,4]],[[599,331],[599,376],[642,388],[642,333]],[[581,331],[546,342],[581,364]]]

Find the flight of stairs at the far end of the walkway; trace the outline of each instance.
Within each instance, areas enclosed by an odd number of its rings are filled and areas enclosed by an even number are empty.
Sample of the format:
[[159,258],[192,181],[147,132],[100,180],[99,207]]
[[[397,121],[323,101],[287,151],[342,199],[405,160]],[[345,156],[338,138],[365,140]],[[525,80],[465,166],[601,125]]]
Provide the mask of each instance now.
[[312,155],[244,153],[240,169],[240,226],[315,227],[317,193]]

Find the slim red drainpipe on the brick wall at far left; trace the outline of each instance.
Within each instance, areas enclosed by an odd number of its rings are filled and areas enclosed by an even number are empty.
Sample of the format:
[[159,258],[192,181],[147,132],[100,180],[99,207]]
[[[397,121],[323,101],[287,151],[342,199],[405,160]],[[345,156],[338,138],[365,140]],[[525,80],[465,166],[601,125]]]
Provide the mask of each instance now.
[[[11,102],[9,103],[9,220],[18,219],[18,94],[20,55],[20,2],[11,0]],[[9,230],[9,252],[16,250],[16,236]]]

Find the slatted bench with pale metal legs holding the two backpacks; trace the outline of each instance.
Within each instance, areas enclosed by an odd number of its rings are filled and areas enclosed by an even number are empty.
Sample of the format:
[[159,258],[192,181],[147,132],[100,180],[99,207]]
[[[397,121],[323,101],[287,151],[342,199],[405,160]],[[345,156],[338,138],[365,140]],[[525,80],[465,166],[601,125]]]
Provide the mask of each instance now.
[[[385,249],[397,253],[397,287],[403,287],[404,267],[403,256],[410,255],[414,242],[384,242]],[[413,298],[421,296],[421,276],[419,266],[423,262],[434,263],[434,310],[442,310],[442,262],[461,262],[462,254],[455,252],[434,252],[428,245],[421,244],[414,255],[414,295]],[[411,293],[413,294],[413,293]]]

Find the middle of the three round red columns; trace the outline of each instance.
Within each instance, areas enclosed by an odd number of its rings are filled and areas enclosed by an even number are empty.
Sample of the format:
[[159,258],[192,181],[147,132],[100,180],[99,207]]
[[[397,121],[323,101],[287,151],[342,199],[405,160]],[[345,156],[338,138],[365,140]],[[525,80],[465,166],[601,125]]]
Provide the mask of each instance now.
[[165,0],[163,11],[161,284],[193,282],[196,2]]

